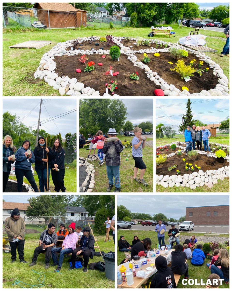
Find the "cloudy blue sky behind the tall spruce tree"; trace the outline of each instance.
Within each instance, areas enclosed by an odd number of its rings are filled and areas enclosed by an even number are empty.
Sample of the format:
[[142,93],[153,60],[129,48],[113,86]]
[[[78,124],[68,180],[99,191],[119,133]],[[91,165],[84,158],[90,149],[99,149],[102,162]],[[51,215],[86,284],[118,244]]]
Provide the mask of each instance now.
[[[182,116],[186,113],[186,103],[188,99],[156,99],[156,120],[155,124],[163,123],[164,125],[175,126],[182,123]],[[191,99],[191,109],[193,119],[199,119],[203,123],[218,124],[222,120],[226,120],[229,116],[229,99]],[[211,111],[221,111],[212,112]],[[200,113],[205,112],[205,113]],[[196,114],[200,113],[200,114]],[[179,115],[179,116],[173,116]],[[160,116],[168,116],[160,117]]]

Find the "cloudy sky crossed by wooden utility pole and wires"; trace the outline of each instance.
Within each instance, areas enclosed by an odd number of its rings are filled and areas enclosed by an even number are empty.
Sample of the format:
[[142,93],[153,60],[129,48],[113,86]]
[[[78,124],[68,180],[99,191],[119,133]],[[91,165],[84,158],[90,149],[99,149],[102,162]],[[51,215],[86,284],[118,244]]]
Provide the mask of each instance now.
[[[59,114],[63,115],[63,113],[66,114],[68,111],[77,108],[76,99],[43,99],[42,102],[43,103],[40,115],[41,123],[43,123],[42,121],[47,118],[53,118]],[[9,111],[12,115],[17,114],[23,124],[28,127],[32,126],[32,130],[34,130],[37,129],[38,124],[39,104],[40,99],[7,98],[3,99],[3,112]],[[35,110],[32,111],[26,118],[24,118],[34,108]],[[54,119],[54,123],[52,120],[50,120],[44,125],[41,124],[39,129],[44,129],[49,134],[59,134],[60,132],[62,138],[65,138],[65,134],[68,132],[77,132],[77,111],[65,115],[62,118]]]

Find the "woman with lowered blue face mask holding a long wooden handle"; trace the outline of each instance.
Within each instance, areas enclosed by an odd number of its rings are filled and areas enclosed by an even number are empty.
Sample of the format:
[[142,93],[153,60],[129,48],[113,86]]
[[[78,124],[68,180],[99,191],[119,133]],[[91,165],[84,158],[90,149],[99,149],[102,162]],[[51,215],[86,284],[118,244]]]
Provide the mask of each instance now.
[[[53,161],[52,149],[47,147],[45,138],[40,136],[38,138],[38,145],[34,150],[35,155],[35,171],[39,178],[39,191],[44,192],[49,190],[49,176],[51,171],[51,163]],[[47,158],[48,155],[48,158]],[[48,164],[48,187],[47,187],[47,164]],[[48,189],[47,189],[48,188]]]

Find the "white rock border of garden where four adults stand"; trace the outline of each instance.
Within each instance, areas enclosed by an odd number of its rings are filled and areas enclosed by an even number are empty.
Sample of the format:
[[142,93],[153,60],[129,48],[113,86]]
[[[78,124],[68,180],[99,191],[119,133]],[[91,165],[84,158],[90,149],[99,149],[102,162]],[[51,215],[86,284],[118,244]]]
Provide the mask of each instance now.
[[[165,147],[170,146],[173,143],[169,143],[166,145],[160,145],[157,146],[156,149],[159,147]],[[184,142],[181,142],[181,144],[184,144]],[[216,143],[216,145],[220,145]],[[221,146],[221,145],[220,145]],[[181,148],[181,152],[185,152],[185,148],[181,145],[177,145],[177,148]],[[228,147],[228,146],[226,146]],[[178,150],[176,151],[178,152]],[[198,151],[199,154],[206,155],[205,152]],[[164,152],[165,154],[165,152]],[[171,157],[173,155],[176,155],[176,153],[171,153],[170,155],[167,155],[167,157]],[[216,157],[215,154],[211,153],[211,157]],[[227,157],[227,159],[226,159]],[[226,162],[229,162],[229,156],[226,156],[224,159]],[[207,170],[206,172],[199,170],[197,172],[193,172],[190,174],[184,174],[184,175],[155,175],[155,184],[161,185],[164,188],[167,187],[187,187],[190,189],[196,189],[196,187],[203,187],[204,185],[208,186],[209,188],[213,188],[214,184],[218,184],[218,180],[221,181],[224,180],[224,178],[229,178],[229,166],[224,166],[222,168],[219,168],[217,170]]]

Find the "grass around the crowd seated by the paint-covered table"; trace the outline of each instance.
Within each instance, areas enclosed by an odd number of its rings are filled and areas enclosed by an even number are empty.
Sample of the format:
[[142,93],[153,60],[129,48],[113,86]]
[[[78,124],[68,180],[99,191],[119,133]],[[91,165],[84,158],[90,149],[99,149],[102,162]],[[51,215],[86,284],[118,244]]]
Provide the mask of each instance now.
[[[192,234],[192,233],[191,233]],[[144,239],[145,237],[149,237],[151,239],[151,247],[152,248],[157,248],[157,234],[155,232],[151,232],[151,231],[144,231],[144,230],[137,230],[137,231],[125,231],[125,230],[118,230],[117,232],[117,236],[118,236],[118,240],[119,240],[119,237],[120,235],[124,235],[125,236],[125,239],[131,244],[132,240],[133,240],[133,237],[134,235],[137,235],[139,237],[140,240]],[[201,236],[203,234],[200,234],[200,233],[196,233],[196,238],[198,239],[199,236]],[[190,236],[190,235],[189,235]],[[225,240],[226,240],[226,237],[229,238],[229,234],[228,235],[220,235],[222,237],[225,237]],[[168,235],[167,235],[167,232],[165,232],[165,235],[164,235],[164,239],[165,239],[165,242],[168,242]],[[200,240],[200,238],[198,239]],[[209,242],[211,241],[210,237],[209,237]],[[115,241],[116,243],[116,241]],[[183,244],[184,243],[184,240],[181,239],[181,235],[180,235],[180,244]],[[117,265],[120,264],[120,262],[125,258],[125,255],[123,252],[117,252],[118,254],[118,258],[117,258]],[[189,279],[198,279],[198,283],[200,282],[200,279],[203,280],[204,283],[206,283],[207,279],[208,279],[208,276],[211,274],[210,270],[208,267],[206,267],[206,263],[210,263],[211,261],[209,259],[205,259],[204,261],[204,264],[202,266],[193,266],[190,262],[190,260],[187,260],[187,263],[189,265]],[[149,278],[148,282],[150,282],[152,279]],[[177,288],[204,288],[202,286],[196,286],[196,285],[182,285],[182,279],[184,279],[184,275],[182,275],[180,277],[180,280],[177,284]],[[229,284],[225,284],[223,283],[222,286],[220,286],[220,288],[229,288]]]

